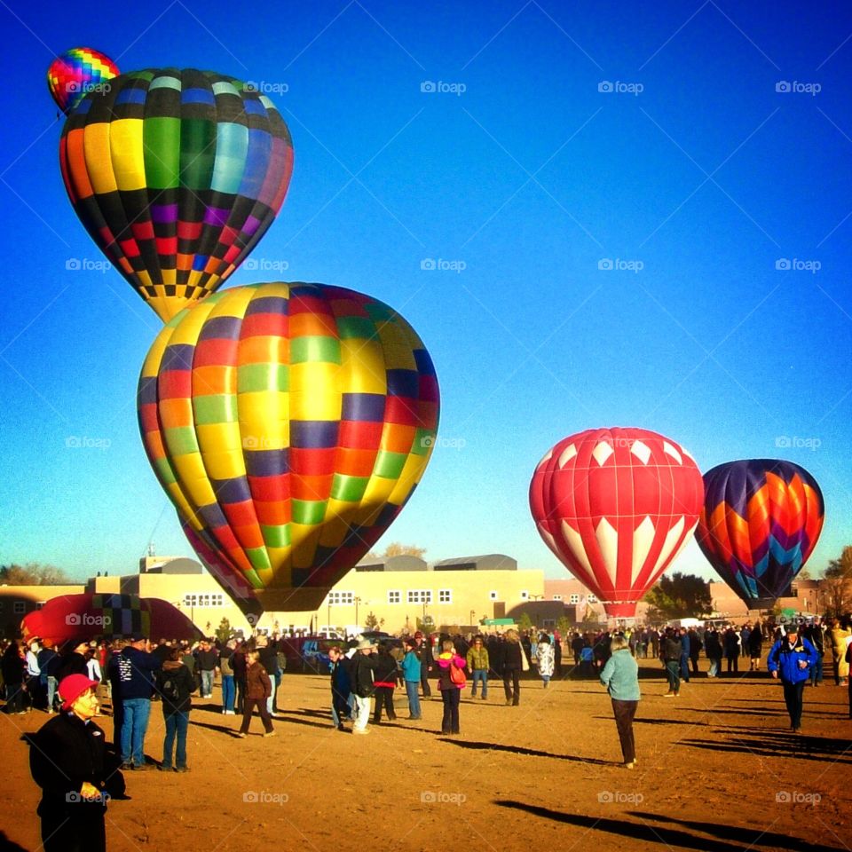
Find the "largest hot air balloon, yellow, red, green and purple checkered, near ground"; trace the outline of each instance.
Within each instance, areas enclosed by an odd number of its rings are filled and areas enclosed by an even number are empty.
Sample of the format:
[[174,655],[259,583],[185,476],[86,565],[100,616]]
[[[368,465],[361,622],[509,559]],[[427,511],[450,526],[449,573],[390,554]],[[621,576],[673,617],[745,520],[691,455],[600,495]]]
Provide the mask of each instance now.
[[255,284],[162,329],[138,414],[190,542],[242,611],[316,610],[420,481],[438,380],[386,304]]

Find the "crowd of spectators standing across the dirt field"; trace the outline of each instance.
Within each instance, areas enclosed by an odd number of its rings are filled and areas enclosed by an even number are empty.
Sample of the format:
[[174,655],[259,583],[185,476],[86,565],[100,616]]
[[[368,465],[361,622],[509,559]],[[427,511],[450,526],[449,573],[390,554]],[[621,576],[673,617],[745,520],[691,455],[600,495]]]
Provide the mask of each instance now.
[[[656,658],[665,672],[667,698],[680,695],[682,684],[703,675],[700,655],[708,660],[706,676],[740,675],[740,660],[748,671],[766,667],[783,685],[791,728],[801,730],[803,691],[807,683],[824,680],[823,659],[830,653],[834,682],[849,687],[852,718],[852,630],[849,622],[826,625],[814,619],[806,625],[778,626],[756,621],[743,627],[624,628],[616,631],[552,630],[502,635],[406,635],[402,641],[375,643],[369,638],[329,643],[330,719],[336,730],[363,735],[383,718],[396,722],[394,701],[404,688],[408,720],[422,719],[421,698],[437,688],[443,704],[441,733],[461,732],[461,695],[488,700],[489,686],[501,682],[506,705],[518,706],[522,683],[531,678],[547,689],[553,677],[590,676],[608,690],[627,769],[636,765],[633,720],[641,699],[637,659]],[[573,653],[573,667],[564,667],[563,648]],[[53,849],[105,848],[106,800],[122,796],[122,772],[151,769],[189,770],[186,735],[192,696],[213,698],[217,677],[221,713],[241,714],[239,730],[248,736],[254,711],[264,737],[275,734],[272,720],[280,715],[278,695],[287,666],[286,645],[277,636],[248,640],[204,639],[197,643],[134,634],[111,642],[72,642],[62,648],[31,639],[0,643],[6,714],[41,710],[53,716],[37,734],[29,735],[33,777],[43,788],[39,815],[43,845]],[[742,676],[746,676],[743,663]],[[95,718],[101,698],[113,717],[112,746]],[[162,760],[146,760],[145,739],[152,705],[159,704],[164,722]],[[106,707],[105,707],[106,711]],[[80,759],[84,755],[84,760]],[[69,765],[73,768],[69,769]],[[64,791],[63,804],[59,793]],[[76,798],[75,798],[76,797]],[[98,807],[74,809],[75,801],[95,801]]]

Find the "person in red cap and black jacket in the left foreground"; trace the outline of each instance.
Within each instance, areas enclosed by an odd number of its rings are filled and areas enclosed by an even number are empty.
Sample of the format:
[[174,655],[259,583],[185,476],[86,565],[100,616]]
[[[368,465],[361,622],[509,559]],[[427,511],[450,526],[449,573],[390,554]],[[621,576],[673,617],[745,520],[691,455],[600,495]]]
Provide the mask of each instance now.
[[44,852],[106,852],[106,801],[124,793],[119,758],[92,717],[97,681],[68,675],[59,682],[62,712],[28,738],[29,768],[42,788]]

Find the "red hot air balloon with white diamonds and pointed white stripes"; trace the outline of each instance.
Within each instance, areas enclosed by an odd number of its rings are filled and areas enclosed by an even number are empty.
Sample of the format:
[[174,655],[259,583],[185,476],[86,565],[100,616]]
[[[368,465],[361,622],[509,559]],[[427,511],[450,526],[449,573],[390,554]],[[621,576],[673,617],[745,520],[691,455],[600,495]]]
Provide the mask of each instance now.
[[644,429],[591,429],[539,462],[530,508],[541,538],[604,603],[630,618],[690,539],[704,489],[695,461]]

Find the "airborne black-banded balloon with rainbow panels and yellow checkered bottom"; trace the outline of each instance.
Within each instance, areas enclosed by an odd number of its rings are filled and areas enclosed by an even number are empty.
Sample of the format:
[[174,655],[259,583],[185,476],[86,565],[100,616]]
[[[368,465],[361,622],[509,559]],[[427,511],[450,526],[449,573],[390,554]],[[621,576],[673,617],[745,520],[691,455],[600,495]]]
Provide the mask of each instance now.
[[59,164],[91,238],[167,322],[263,237],[287,193],[293,145],[256,87],[165,68],[120,75],[83,99]]

